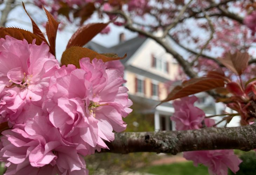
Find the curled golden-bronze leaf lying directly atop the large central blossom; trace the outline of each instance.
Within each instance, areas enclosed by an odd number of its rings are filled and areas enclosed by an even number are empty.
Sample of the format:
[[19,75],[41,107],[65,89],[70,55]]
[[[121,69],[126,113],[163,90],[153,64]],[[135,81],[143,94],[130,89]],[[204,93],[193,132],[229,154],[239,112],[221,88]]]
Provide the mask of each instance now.
[[103,62],[108,62],[108,61],[123,59],[126,57],[126,54],[123,57],[107,57],[93,50],[90,50],[88,48],[70,47],[69,49],[63,52],[61,57],[61,64],[62,65],[74,64],[77,68],[80,68],[79,60],[84,57],[90,58],[91,61],[94,58],[97,58],[97,59],[102,59]]

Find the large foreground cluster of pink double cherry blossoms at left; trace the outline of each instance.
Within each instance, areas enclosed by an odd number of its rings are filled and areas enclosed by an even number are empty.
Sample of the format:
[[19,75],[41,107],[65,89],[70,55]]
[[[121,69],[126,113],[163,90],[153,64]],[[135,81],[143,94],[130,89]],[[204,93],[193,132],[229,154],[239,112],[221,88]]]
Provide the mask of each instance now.
[[46,43],[0,39],[0,161],[6,175],[88,174],[83,156],[107,148],[132,110],[119,61],[59,66]]

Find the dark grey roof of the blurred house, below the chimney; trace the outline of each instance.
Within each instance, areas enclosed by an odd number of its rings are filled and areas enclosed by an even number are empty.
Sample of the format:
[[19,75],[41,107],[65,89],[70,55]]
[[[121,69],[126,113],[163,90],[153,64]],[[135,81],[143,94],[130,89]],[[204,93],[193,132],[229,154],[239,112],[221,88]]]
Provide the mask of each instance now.
[[89,49],[95,50],[96,52],[99,52],[99,53],[115,53],[118,56],[124,56],[124,54],[127,54],[127,57],[125,59],[120,60],[124,64],[129,60],[129,58],[136,52],[137,49],[139,49],[141,44],[143,44],[146,40],[147,40],[146,37],[137,36],[130,40],[123,41],[110,48],[104,47],[100,44],[90,41],[88,44],[85,45],[85,47],[88,47]]

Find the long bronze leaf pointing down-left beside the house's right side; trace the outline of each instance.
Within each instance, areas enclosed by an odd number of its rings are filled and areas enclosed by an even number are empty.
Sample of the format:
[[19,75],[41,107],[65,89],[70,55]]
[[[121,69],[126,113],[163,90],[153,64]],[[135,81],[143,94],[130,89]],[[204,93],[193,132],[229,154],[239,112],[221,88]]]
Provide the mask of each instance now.
[[177,98],[186,97],[198,92],[208,91],[217,87],[224,87],[224,80],[221,78],[193,78],[182,83],[181,86],[176,86],[163,102],[168,102]]

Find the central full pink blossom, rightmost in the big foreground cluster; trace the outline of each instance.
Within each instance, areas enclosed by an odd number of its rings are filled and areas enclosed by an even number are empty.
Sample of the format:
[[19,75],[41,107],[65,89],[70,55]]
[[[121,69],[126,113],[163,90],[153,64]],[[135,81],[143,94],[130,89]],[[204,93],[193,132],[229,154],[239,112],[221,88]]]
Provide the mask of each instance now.
[[[78,144],[78,152],[87,155],[95,148],[107,148],[114,133],[123,131],[126,117],[132,110],[120,71],[106,69],[102,60],[80,60],[81,69],[66,68],[55,72],[49,83],[44,109],[50,122],[65,140]],[[67,70],[68,69],[68,70]]]

